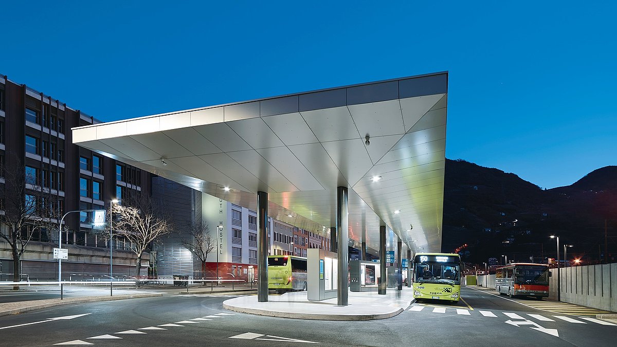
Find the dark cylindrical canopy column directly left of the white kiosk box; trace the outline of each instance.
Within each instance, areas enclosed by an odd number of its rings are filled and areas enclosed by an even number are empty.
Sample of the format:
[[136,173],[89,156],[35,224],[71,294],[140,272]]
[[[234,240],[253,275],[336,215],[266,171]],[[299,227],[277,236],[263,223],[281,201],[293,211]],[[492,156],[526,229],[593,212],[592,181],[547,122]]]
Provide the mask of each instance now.
[[257,301],[268,301],[268,193],[257,192]]

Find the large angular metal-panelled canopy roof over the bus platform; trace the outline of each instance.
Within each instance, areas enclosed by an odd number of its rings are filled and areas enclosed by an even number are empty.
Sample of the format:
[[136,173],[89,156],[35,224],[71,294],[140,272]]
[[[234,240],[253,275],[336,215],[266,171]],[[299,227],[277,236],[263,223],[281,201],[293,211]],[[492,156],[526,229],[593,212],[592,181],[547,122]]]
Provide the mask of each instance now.
[[[349,240],[387,225],[441,251],[447,72],[73,128],[73,143],[326,235],[349,188]],[[367,136],[368,143],[367,144]],[[395,241],[395,240],[394,240]]]

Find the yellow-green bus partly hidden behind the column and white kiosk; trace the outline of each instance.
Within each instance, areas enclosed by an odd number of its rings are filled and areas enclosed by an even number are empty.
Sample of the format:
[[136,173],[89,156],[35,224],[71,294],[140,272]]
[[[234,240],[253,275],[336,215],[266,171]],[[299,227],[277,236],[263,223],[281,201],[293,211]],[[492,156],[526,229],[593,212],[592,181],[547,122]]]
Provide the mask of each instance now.
[[276,293],[307,290],[307,259],[268,256],[268,289],[274,289]]

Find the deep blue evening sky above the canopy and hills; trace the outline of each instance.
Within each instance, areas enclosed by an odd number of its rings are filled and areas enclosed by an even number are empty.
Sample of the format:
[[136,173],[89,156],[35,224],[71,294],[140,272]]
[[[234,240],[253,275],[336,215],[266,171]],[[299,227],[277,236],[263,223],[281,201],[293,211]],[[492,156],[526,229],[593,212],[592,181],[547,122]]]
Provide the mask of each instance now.
[[100,120],[448,70],[448,158],[617,164],[615,2],[6,2],[0,73]]

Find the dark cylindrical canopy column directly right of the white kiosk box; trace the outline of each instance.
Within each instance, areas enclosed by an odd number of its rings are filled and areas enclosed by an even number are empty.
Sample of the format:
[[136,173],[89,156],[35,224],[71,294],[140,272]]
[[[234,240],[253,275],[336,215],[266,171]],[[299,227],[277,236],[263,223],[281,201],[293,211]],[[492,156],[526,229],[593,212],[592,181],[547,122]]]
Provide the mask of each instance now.
[[349,274],[349,227],[347,224],[347,208],[349,206],[349,193],[347,187],[336,188],[336,229],[337,229],[337,256],[338,256],[338,283],[336,284],[336,296],[339,306],[347,306],[349,288],[347,283]]

